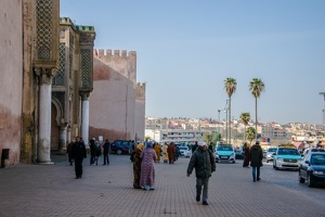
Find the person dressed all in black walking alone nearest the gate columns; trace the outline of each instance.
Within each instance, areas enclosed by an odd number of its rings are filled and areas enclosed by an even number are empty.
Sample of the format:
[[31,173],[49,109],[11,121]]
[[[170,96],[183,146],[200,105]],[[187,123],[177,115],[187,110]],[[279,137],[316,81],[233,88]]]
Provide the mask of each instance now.
[[72,149],[72,155],[75,161],[76,179],[80,179],[82,176],[82,161],[83,158],[87,158],[87,151],[84,143],[79,137],[76,137],[76,142]]

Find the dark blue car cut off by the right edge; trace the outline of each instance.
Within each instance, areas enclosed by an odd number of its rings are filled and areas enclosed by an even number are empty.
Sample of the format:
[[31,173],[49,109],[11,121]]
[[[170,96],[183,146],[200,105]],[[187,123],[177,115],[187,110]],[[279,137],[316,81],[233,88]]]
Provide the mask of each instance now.
[[299,182],[309,187],[325,184],[325,152],[309,152],[299,165]]

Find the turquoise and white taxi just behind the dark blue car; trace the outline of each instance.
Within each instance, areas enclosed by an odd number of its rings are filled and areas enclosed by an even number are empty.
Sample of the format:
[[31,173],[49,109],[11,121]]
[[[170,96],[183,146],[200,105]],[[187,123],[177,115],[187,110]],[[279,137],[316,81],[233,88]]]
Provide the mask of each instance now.
[[281,144],[277,146],[273,156],[273,168],[278,169],[299,169],[302,157],[294,144]]

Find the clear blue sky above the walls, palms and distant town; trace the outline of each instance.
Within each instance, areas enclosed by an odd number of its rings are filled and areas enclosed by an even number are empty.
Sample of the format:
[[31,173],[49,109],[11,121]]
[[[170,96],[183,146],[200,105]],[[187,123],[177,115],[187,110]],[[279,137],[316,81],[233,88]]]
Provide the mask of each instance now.
[[94,26],[96,49],[136,51],[146,116],[218,119],[232,77],[232,116],[255,118],[260,78],[259,122],[323,124],[324,0],[61,0],[60,13]]

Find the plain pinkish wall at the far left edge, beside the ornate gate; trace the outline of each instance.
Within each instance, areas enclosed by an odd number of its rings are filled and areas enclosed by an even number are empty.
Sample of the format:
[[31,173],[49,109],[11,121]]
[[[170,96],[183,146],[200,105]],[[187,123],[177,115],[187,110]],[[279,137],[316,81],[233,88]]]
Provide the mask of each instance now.
[[[6,165],[20,162],[23,86],[22,1],[0,2],[0,153],[10,149]],[[0,155],[1,157],[1,155]]]

